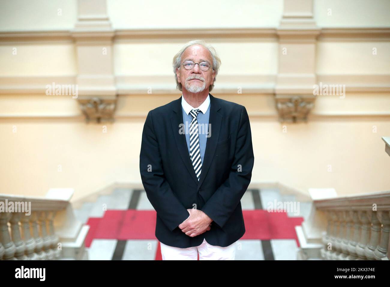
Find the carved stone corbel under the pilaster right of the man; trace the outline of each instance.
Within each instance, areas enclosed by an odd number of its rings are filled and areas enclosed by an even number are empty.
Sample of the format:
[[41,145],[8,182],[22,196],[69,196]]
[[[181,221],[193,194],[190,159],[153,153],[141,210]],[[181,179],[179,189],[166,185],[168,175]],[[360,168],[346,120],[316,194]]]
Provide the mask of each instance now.
[[279,121],[307,121],[307,115],[314,107],[315,96],[305,95],[276,95],[275,103],[279,114]]

